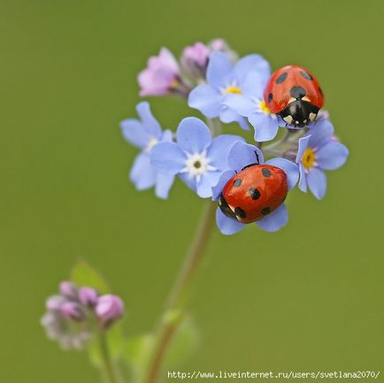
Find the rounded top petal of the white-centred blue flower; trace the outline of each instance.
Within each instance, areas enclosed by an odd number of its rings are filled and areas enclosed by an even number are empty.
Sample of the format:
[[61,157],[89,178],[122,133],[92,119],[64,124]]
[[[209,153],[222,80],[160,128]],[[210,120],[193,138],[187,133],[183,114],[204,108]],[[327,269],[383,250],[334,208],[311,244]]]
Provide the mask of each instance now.
[[191,154],[202,153],[211,145],[211,130],[201,119],[187,117],[182,119],[176,132],[178,145]]

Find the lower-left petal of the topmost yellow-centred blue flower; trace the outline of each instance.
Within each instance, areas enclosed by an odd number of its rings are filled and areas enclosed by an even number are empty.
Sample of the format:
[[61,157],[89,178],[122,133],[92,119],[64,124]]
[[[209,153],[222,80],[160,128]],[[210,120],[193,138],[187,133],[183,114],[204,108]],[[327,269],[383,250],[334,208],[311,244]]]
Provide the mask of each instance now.
[[201,111],[208,119],[219,117],[220,102],[223,95],[212,88],[211,85],[203,84],[194,88],[188,96],[188,105]]

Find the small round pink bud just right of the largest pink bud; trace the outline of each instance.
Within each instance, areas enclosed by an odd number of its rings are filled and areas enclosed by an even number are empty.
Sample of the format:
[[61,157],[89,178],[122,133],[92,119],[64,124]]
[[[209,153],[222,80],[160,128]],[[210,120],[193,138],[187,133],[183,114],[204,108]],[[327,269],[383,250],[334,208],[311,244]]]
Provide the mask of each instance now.
[[181,65],[186,73],[193,78],[204,78],[208,65],[210,50],[203,42],[196,42],[184,49]]

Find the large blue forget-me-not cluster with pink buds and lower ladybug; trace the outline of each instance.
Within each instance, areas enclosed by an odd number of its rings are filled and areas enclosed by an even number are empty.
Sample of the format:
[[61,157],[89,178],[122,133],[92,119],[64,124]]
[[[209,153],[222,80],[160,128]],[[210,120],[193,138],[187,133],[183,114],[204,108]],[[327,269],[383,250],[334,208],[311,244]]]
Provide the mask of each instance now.
[[[312,80],[309,73],[301,73],[305,80]],[[323,198],[324,171],[342,166],[349,151],[334,136],[326,111],[311,105],[303,88],[291,89],[289,103],[303,98],[316,111],[311,119],[288,126],[287,118],[271,111],[271,100],[265,99],[271,76],[265,57],[251,54],[238,59],[222,39],[196,42],[183,50],[180,60],[165,48],[157,57],[150,57],[138,76],[140,95],[180,96],[204,115],[208,125],[187,117],[173,134],[161,128],[149,103],[139,103],[140,119],[121,122],[126,140],[141,150],[130,172],[135,187],[155,187],[158,197],[167,198],[173,181],[179,178],[198,196],[218,201],[216,218],[223,234],[234,234],[251,222],[268,232],[285,226],[288,212],[283,202],[297,182],[303,192],[309,189],[316,198]],[[280,80],[286,77],[284,73]],[[227,123],[244,130],[252,127],[255,142],[222,134],[222,124]],[[280,130],[284,131],[281,138],[265,145]],[[236,174],[239,177],[234,180]],[[245,189],[250,182],[253,184]]]

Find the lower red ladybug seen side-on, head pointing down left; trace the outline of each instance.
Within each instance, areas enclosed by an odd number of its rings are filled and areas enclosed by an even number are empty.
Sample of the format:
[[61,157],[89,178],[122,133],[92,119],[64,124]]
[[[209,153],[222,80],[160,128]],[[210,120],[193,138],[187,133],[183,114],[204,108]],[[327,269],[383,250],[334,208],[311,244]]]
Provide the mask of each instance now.
[[254,164],[227,181],[219,207],[227,217],[249,224],[275,211],[287,193],[287,175],[282,169]]

